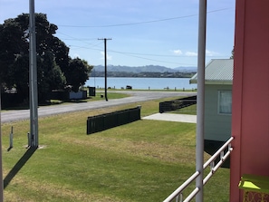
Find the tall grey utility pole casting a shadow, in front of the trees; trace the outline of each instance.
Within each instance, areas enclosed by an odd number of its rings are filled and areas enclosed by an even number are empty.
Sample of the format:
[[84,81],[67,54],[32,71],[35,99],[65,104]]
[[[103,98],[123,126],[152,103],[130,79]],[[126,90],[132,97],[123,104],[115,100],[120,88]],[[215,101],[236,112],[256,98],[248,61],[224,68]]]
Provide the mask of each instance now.
[[29,53],[29,91],[30,91],[30,135],[31,147],[38,147],[38,115],[37,115],[37,67],[36,67],[36,39],[35,39],[35,14],[34,0],[29,2],[29,34],[30,34],[30,53]]

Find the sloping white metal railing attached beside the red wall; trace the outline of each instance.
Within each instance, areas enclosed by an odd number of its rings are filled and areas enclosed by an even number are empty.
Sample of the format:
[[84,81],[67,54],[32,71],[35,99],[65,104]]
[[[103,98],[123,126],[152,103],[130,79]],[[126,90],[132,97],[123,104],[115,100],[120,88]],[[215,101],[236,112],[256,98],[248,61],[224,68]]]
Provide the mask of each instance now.
[[[216,151],[216,153],[207,160],[204,164],[204,170],[209,166],[210,171],[207,174],[207,177],[203,179],[203,185],[205,186],[209,178],[213,176],[218,168],[226,161],[226,159],[230,156],[233,148],[231,145],[232,140],[234,137],[231,137],[226,141],[226,143]],[[216,163],[216,159],[219,157],[218,162]],[[199,192],[199,188],[193,189],[193,191],[184,199],[183,198],[183,191],[190,185],[198,176],[200,172],[196,171],[190,178],[188,178],[179,188],[177,188],[169,197],[167,197],[163,202],[171,202],[175,199],[176,202],[188,202],[192,198],[194,198],[197,193]]]

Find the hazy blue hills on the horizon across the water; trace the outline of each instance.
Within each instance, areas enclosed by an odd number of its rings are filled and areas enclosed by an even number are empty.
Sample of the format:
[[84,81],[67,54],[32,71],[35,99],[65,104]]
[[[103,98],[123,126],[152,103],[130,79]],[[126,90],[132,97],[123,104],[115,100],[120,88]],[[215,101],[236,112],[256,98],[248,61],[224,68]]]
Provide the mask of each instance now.
[[[97,65],[94,66],[91,72],[104,72],[104,66]],[[197,67],[178,67],[175,69],[168,68],[165,66],[159,65],[147,65],[147,66],[137,66],[137,67],[130,67],[130,66],[114,66],[108,65],[108,72],[197,72]]]

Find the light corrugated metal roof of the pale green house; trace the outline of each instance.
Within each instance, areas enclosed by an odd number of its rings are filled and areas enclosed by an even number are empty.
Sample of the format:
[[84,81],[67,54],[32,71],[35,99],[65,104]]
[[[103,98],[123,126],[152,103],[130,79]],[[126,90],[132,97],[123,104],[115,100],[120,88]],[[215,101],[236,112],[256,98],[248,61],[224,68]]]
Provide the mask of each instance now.
[[[234,60],[211,60],[205,70],[206,84],[233,84]],[[197,83],[197,73],[189,80],[189,83]]]

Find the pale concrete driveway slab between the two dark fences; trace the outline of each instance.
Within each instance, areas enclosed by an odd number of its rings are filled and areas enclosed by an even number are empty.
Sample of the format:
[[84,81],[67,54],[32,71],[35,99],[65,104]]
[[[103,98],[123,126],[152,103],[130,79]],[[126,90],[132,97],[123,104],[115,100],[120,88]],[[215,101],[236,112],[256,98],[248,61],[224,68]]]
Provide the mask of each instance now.
[[197,115],[176,114],[176,113],[155,113],[142,120],[167,120],[187,123],[197,123]]

